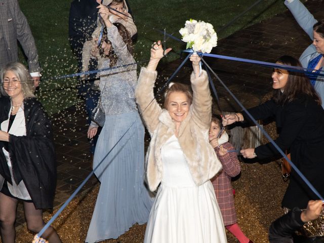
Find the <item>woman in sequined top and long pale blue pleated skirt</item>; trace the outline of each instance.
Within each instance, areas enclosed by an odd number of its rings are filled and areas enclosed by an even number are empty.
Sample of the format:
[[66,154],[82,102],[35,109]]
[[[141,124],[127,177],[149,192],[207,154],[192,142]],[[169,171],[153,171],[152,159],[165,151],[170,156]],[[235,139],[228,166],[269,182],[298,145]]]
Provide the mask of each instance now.
[[[135,102],[137,66],[131,36],[123,25],[109,21],[107,7],[100,5],[99,14],[107,30],[102,44],[107,58],[102,68],[115,68],[100,72],[99,103],[105,124],[96,145],[93,168],[103,161],[95,171],[101,184],[86,238],[89,243],[118,238],[133,224],[146,223],[153,203],[143,178],[144,126]],[[88,137],[95,136],[97,129],[98,125],[92,122]]]

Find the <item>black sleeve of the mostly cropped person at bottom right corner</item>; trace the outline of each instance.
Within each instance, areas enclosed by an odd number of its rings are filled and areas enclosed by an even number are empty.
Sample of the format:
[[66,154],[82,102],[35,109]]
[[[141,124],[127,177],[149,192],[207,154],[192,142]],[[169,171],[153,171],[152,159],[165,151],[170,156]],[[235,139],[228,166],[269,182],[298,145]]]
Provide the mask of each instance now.
[[300,215],[302,211],[294,208],[288,214],[272,222],[269,229],[270,243],[293,243],[293,234],[304,225]]

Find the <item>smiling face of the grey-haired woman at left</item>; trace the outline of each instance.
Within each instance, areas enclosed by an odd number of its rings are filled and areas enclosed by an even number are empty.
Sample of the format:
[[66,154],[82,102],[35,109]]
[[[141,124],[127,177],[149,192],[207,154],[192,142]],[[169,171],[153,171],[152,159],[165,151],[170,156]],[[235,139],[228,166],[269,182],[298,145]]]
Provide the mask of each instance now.
[[7,71],[3,79],[4,90],[11,98],[23,98],[21,82],[17,75],[12,71]]

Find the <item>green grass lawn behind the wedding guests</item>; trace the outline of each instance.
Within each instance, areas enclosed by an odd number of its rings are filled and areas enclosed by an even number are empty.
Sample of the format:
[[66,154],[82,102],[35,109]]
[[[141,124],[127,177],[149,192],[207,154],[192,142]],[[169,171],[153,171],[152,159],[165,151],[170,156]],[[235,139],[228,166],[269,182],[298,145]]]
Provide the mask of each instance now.
[[[95,0],[89,0],[95,1]],[[203,20],[214,25],[217,32],[236,15],[243,12],[256,0],[129,0],[133,16],[138,27],[138,41],[135,45],[137,61],[149,58],[152,41],[163,38],[153,27],[167,29],[180,37],[179,29],[186,20],[192,18]],[[262,1],[258,6],[239,18],[233,25],[219,32],[219,38],[245,28],[248,25],[267,19],[286,10],[284,1]],[[76,60],[68,43],[68,16],[71,0],[19,0],[22,12],[28,19],[43,67],[41,89],[37,96],[50,114],[78,102],[76,78],[53,80],[60,76],[76,72]],[[185,45],[169,39],[168,46],[174,49],[166,61],[177,59]],[[20,53],[20,59],[23,55]],[[142,63],[141,65],[145,65]]]

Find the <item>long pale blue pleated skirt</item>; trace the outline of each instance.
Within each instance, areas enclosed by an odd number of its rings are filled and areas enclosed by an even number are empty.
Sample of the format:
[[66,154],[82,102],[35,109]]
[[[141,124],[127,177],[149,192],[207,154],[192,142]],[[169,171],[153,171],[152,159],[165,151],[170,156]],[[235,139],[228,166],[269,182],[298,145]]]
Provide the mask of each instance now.
[[89,243],[118,238],[133,224],[148,220],[154,198],[144,184],[144,126],[138,112],[106,116],[93,168],[102,159],[95,172],[101,184],[86,238]]

